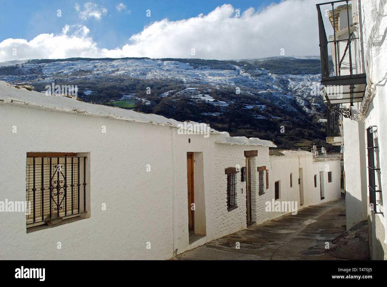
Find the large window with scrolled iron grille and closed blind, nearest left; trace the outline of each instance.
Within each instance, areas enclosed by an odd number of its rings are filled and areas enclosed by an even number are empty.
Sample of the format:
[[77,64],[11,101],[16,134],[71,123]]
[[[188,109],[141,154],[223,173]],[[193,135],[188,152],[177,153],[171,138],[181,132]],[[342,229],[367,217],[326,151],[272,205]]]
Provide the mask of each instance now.
[[86,158],[75,153],[27,153],[26,200],[31,202],[27,228],[86,212]]

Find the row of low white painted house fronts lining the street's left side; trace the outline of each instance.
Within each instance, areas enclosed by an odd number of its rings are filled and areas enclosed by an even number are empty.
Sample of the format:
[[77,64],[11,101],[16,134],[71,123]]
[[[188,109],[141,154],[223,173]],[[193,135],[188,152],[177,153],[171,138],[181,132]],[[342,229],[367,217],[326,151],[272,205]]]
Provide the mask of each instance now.
[[[257,151],[250,159],[252,221],[257,224],[287,213],[265,211],[265,202],[274,198],[275,181],[281,181],[280,201],[300,203],[301,178],[302,207],[340,197],[339,159],[314,161],[312,153],[296,151],[269,156],[269,148],[276,147],[270,141],[230,137],[216,130],[208,137],[180,134],[179,122],[153,114],[84,103],[0,82],[0,120],[0,201],[26,200],[27,152],[87,156],[86,215],[27,229],[24,212],[0,212],[0,259],[162,260],[244,229],[246,182],[238,172],[238,207],[228,211],[225,169],[246,166],[245,151]],[[191,243],[187,152],[194,153],[198,236]],[[324,183],[326,196],[321,200],[313,176],[325,170],[325,164],[333,180]],[[257,169],[262,166],[268,170],[269,188],[265,185],[264,194],[259,195]],[[103,204],[106,210],[101,208]]]

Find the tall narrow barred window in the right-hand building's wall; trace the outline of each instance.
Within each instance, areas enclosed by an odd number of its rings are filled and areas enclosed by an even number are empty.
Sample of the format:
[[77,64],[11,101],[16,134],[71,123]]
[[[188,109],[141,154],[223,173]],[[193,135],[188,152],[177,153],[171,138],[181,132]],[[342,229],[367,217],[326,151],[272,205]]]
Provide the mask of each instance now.
[[[376,193],[379,193],[379,199],[382,197],[381,188],[377,189],[375,172],[380,172],[380,168],[377,168],[375,165],[375,149],[378,149],[378,146],[374,145],[374,133],[376,132],[376,126],[370,126],[367,129],[367,157],[368,157],[368,191],[370,197],[370,207],[374,213],[383,214],[380,210],[377,210],[378,201],[376,199]],[[381,200],[380,200],[381,201]]]

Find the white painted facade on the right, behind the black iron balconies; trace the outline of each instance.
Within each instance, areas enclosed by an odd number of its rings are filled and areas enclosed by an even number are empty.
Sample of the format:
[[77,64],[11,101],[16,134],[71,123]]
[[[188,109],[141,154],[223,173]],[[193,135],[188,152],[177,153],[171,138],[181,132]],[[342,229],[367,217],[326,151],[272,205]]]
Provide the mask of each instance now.
[[[353,72],[366,73],[368,88],[362,102],[355,102],[353,106],[342,104],[342,108],[351,108],[352,112],[351,118],[342,120],[347,229],[368,219],[370,253],[374,260],[387,259],[387,221],[383,214],[383,206],[387,203],[387,177],[383,176],[383,172],[387,171],[387,162],[384,160],[387,154],[386,4],[386,0],[352,1],[352,27],[360,38],[360,41],[353,42],[351,48]],[[341,17],[346,20],[346,15]],[[348,65],[348,56],[343,63]],[[349,75],[349,71],[346,74]],[[377,146],[374,152],[375,167],[380,168],[380,171],[375,171],[375,188],[381,190],[376,193],[377,213],[372,212],[369,206],[367,129],[370,127],[374,130],[374,146]]]

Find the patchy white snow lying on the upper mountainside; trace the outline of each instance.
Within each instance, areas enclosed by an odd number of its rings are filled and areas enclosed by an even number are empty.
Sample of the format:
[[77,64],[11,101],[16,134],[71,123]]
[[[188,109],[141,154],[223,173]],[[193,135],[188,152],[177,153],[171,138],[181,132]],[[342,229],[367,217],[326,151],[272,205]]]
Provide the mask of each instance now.
[[[315,56],[295,57],[295,58],[315,58]],[[7,62],[14,65],[16,62]],[[19,62],[18,62],[19,63]],[[22,62],[20,62],[22,63]],[[25,63],[25,62],[23,62]],[[3,63],[2,63],[3,64]],[[206,101],[218,106],[227,106],[227,102],[216,101],[210,94],[210,91],[203,90],[200,93],[194,85],[209,84],[211,89],[221,85],[240,87],[241,91],[247,94],[253,94],[248,89],[259,91],[260,97],[267,99],[284,109],[297,113],[296,105],[300,106],[308,114],[321,114],[323,111],[322,101],[318,96],[311,96],[313,85],[318,84],[320,75],[275,75],[269,71],[261,69],[262,75],[256,79],[250,74],[243,72],[241,68],[234,66],[236,70],[218,70],[212,68],[194,69],[188,63],[178,61],[163,61],[157,59],[126,59],[126,60],[80,60],[51,62],[41,64],[24,64],[25,68],[41,68],[43,75],[39,75],[38,82],[52,82],[56,79],[68,78],[74,81],[77,78],[95,79],[96,75],[126,75],[130,77],[152,79],[152,78],[175,78],[182,80],[187,85],[183,91],[168,91],[159,95],[167,97],[172,92],[174,97],[188,96],[194,101]],[[79,73],[80,72],[80,73]],[[72,73],[75,73],[72,75]],[[30,77],[30,79],[28,78]],[[0,80],[9,82],[20,79],[34,80],[36,75],[26,75],[25,78],[19,76],[3,76]],[[191,85],[191,86],[190,86]],[[92,93],[91,89],[84,91],[86,95]],[[195,96],[195,97],[194,97]],[[247,109],[252,109],[256,105],[246,105]],[[259,105],[257,105],[259,106]],[[261,105],[265,108],[265,105]]]

